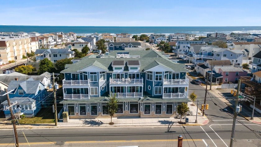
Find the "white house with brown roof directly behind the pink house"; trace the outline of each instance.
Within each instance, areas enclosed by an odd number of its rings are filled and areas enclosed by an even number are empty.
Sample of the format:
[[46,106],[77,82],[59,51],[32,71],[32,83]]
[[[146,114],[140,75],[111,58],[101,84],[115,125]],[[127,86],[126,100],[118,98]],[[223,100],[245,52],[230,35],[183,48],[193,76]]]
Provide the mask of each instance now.
[[230,66],[233,67],[233,64],[230,60],[207,60],[204,63],[196,64],[196,72],[197,74],[202,74],[204,77],[206,75],[206,72],[211,70],[211,67],[215,66]]

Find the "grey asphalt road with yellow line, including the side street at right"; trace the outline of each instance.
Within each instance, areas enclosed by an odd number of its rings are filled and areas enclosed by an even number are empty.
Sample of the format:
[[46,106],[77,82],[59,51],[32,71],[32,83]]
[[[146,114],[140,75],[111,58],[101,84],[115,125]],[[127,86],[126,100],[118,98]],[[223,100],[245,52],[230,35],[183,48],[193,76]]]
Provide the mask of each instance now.
[[[191,81],[191,79],[190,79]],[[204,102],[205,90],[190,83],[189,94],[195,91]],[[177,146],[177,136],[183,136],[183,147],[227,147],[230,143],[233,111],[219,98],[207,93],[209,109],[205,115],[209,123],[204,126],[160,126],[160,127],[83,127],[18,130],[20,146],[130,146],[169,147]],[[228,111],[224,111],[227,108]],[[261,146],[261,125],[251,123],[238,116],[234,146]],[[23,135],[23,132],[26,139]],[[0,130],[0,147],[13,146],[12,130]]]

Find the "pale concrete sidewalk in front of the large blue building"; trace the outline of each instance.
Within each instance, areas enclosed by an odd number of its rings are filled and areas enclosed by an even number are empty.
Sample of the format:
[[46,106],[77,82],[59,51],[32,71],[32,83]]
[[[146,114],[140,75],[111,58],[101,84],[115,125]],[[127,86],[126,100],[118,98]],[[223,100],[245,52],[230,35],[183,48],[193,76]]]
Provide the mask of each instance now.
[[[198,110],[198,123],[196,120],[197,106],[191,106],[192,102],[188,103],[190,111],[193,115],[188,115],[189,123],[179,124],[180,119],[177,118],[139,118],[139,117],[118,117],[112,118],[114,125],[109,125],[111,119],[70,119],[69,122],[58,122],[57,126],[52,124],[32,124],[32,125],[16,125],[16,128],[60,128],[60,127],[116,127],[116,126],[182,126],[182,125],[206,125],[208,124],[208,118],[202,116],[200,110]],[[185,122],[185,119],[181,119]],[[0,129],[11,129],[11,123],[0,123]]]

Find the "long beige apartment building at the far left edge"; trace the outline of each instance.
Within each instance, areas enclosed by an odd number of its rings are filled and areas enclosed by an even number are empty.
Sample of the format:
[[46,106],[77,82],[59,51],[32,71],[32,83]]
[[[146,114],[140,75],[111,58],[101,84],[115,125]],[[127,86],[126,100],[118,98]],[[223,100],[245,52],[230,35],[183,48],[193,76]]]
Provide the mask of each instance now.
[[26,56],[26,52],[39,49],[37,37],[0,38],[0,59],[4,63],[19,60]]

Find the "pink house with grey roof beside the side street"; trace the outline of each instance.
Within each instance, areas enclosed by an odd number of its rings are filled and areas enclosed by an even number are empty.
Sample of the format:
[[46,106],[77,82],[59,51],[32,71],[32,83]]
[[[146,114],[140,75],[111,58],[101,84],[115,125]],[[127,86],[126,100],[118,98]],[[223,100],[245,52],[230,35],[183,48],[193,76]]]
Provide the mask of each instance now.
[[[247,71],[237,67],[215,66],[212,71],[212,84],[222,83],[237,83],[241,76],[247,76]],[[208,82],[211,81],[211,71],[207,71],[205,78],[208,77]],[[206,78],[207,80],[207,78]]]

